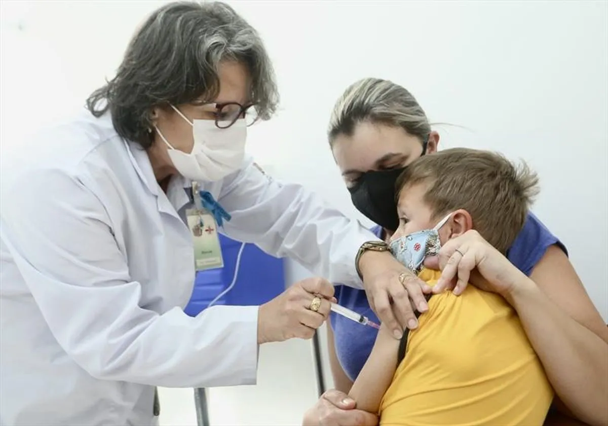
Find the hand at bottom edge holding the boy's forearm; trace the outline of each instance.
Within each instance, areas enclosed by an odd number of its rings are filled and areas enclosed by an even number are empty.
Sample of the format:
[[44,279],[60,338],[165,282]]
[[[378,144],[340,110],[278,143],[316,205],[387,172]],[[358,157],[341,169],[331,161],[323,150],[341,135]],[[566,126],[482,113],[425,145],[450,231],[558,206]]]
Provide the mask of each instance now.
[[347,394],[331,389],[321,396],[313,408],[306,411],[302,426],[376,426],[378,416],[356,410]]

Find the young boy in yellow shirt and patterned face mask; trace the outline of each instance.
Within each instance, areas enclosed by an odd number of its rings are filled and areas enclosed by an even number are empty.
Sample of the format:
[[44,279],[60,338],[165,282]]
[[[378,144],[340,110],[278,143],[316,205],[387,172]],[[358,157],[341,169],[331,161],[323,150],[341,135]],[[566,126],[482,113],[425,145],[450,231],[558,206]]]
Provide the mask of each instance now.
[[[505,253],[537,182],[527,167],[491,152],[458,148],[416,159],[398,181],[391,250],[429,285],[440,272],[422,268],[424,256],[469,229]],[[379,412],[387,426],[543,424],[553,390],[501,296],[473,285],[460,296],[434,295],[419,321],[401,344],[381,327],[349,393],[359,409]]]

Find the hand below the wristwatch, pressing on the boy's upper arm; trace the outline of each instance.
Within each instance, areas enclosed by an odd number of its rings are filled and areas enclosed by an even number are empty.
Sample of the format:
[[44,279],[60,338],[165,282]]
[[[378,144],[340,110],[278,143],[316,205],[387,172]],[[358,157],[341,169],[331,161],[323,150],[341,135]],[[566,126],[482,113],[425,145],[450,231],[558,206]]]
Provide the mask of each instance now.
[[418,327],[414,310],[429,309],[424,293],[431,288],[404,267],[389,251],[368,250],[359,259],[359,270],[371,309],[393,336]]

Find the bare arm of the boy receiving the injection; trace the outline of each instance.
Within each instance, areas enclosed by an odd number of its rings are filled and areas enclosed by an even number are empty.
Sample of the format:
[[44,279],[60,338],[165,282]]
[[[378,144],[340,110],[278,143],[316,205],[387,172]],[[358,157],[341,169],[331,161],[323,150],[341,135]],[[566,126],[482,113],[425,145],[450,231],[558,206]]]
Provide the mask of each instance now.
[[348,393],[359,410],[378,413],[380,401],[395,375],[398,349],[399,340],[387,327],[381,326],[370,357]]

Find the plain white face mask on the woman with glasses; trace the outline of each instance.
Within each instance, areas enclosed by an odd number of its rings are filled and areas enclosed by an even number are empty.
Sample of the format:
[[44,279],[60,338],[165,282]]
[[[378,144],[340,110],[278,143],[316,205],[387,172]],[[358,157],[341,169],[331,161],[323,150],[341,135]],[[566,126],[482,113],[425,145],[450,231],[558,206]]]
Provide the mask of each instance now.
[[182,176],[195,181],[218,181],[241,167],[247,139],[244,119],[238,119],[228,128],[218,128],[214,120],[190,122],[178,108],[173,105],[171,108],[192,125],[192,152],[185,153],[174,148],[159,128],[154,128],[169,147],[169,158]]

